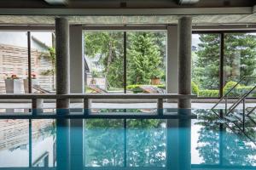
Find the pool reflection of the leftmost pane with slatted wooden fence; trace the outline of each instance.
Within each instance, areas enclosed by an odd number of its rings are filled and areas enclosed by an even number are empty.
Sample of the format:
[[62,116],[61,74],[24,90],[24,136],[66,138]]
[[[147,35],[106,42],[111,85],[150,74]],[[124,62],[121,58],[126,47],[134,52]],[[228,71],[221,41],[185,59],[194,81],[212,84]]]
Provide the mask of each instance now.
[[0,120],[0,167],[28,167],[28,121]]

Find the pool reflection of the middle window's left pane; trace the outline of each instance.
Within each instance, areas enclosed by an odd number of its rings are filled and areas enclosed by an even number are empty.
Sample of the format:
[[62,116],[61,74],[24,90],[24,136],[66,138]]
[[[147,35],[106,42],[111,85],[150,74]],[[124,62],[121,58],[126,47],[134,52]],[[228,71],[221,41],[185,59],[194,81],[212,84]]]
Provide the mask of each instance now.
[[124,166],[124,120],[85,121],[85,167]]

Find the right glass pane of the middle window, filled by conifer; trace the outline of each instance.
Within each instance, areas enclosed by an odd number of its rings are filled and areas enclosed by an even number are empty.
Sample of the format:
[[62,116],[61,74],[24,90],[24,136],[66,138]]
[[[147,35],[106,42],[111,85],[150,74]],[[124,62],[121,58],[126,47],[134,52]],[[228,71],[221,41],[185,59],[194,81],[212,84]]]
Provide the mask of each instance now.
[[166,32],[127,33],[127,90],[166,93]]

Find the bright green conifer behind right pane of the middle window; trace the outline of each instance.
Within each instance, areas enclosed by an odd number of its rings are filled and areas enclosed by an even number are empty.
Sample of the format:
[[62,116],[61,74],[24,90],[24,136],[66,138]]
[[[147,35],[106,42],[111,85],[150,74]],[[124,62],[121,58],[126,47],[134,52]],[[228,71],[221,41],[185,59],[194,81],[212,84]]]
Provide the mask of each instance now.
[[160,47],[150,32],[133,32],[129,34],[127,53],[128,84],[148,84],[152,77],[162,77]]

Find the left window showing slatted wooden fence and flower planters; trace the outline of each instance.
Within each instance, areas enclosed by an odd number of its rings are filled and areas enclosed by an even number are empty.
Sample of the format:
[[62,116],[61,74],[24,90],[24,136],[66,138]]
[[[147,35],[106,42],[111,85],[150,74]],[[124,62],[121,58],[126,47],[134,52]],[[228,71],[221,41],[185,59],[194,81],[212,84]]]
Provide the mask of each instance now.
[[55,91],[53,35],[50,31],[0,31],[0,93],[28,94],[29,78],[32,93]]

